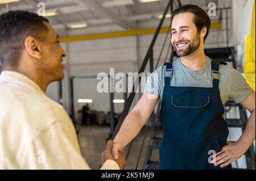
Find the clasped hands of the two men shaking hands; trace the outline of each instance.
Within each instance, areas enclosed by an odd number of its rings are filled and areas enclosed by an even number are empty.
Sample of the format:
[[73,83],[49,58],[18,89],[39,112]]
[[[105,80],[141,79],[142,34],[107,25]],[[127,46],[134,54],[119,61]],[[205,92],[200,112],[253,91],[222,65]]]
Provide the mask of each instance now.
[[126,159],[125,154],[121,151],[121,145],[114,143],[112,140],[108,141],[105,150],[101,154],[101,166],[108,159],[117,162],[120,169],[125,167]]

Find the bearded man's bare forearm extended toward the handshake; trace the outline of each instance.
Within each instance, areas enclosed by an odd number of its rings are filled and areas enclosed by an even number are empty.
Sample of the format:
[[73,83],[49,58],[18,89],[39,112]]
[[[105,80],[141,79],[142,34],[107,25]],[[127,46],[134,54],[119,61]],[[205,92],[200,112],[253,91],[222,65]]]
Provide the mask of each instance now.
[[123,121],[123,124],[115,136],[113,142],[122,142],[122,148],[124,148],[137,134],[141,131],[143,127],[143,120],[139,113],[136,111],[131,111]]

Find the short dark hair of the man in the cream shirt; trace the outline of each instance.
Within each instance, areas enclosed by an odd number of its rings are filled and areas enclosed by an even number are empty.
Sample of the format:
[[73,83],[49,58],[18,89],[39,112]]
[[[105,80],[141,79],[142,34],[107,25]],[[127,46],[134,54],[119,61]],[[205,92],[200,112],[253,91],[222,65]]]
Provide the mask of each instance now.
[[43,22],[49,22],[43,16],[28,11],[9,11],[0,15],[0,60],[4,67],[18,66],[24,40],[28,36],[39,41],[45,39],[48,28]]

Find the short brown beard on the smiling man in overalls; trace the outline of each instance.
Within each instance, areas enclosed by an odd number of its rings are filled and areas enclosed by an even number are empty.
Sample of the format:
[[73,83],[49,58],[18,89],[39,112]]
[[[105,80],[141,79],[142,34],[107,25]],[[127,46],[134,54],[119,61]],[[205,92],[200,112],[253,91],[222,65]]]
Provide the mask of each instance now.
[[179,57],[188,56],[189,54],[195,52],[195,50],[199,48],[199,46],[200,46],[200,35],[199,33],[197,33],[196,37],[193,40],[189,41],[188,47],[185,49],[176,50],[176,54]]

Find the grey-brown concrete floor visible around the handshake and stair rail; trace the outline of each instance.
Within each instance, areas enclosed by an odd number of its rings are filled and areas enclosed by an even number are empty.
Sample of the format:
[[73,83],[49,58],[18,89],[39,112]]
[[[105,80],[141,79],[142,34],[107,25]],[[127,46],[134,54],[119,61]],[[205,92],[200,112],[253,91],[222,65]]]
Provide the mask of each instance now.
[[[108,138],[110,133],[109,127],[104,126],[81,126],[78,128],[79,133],[79,144],[81,148],[81,153],[88,162],[92,169],[98,169],[101,162],[101,153],[106,146],[106,138]],[[141,150],[142,141],[146,128],[143,128],[141,133],[133,141],[133,146],[131,147],[129,157],[127,158],[125,169],[135,169],[139,157],[139,151]],[[148,128],[147,136],[144,142],[141,159],[139,161],[138,169],[142,169],[147,145],[150,136],[150,128]],[[129,146],[123,149],[124,153],[127,154]],[[152,160],[158,161],[158,151],[153,151]]]

